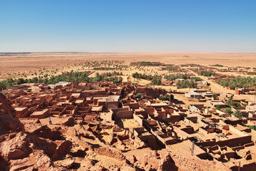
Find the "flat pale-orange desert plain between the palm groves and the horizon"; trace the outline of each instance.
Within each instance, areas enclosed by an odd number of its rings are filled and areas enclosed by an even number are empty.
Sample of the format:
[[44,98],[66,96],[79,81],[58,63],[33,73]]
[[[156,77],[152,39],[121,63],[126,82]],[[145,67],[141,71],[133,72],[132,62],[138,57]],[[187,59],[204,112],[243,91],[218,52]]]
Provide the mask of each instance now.
[[[256,53],[211,52],[137,52],[137,53],[0,53],[0,78],[19,78],[21,73],[29,76],[40,68],[55,71],[71,71],[79,64],[94,60],[119,60],[130,62],[157,61],[162,63],[197,63],[200,65],[222,64],[224,66],[256,66]],[[15,73],[15,75],[14,75]],[[19,75],[20,74],[20,75]]]

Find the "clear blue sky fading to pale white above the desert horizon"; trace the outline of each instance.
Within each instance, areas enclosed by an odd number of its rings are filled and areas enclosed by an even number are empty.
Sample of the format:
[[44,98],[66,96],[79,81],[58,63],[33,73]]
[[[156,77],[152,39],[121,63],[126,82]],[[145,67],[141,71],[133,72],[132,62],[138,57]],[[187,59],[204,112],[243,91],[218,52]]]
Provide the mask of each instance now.
[[0,52],[256,52],[256,0],[0,0]]

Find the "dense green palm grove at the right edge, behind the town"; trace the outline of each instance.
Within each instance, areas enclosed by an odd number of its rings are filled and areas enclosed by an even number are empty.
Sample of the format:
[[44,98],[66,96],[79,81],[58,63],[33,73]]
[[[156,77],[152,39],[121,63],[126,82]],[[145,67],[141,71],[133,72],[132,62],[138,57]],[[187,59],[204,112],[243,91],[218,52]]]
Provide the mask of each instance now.
[[225,78],[218,79],[216,82],[232,90],[235,90],[235,88],[256,88],[256,78],[251,77]]

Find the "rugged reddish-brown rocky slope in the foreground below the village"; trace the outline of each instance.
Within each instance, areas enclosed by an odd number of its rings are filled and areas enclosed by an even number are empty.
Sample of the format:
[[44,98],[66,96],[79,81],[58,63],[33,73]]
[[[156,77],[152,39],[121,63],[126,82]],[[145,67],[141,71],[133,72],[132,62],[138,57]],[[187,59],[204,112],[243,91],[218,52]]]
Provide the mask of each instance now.
[[58,122],[47,126],[38,119],[19,120],[0,95],[0,170],[229,170],[221,162],[144,150],[143,145],[142,157],[132,163],[133,151],[128,155],[101,142],[99,128],[75,124],[72,117]]

